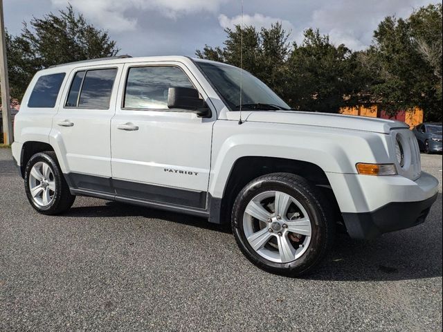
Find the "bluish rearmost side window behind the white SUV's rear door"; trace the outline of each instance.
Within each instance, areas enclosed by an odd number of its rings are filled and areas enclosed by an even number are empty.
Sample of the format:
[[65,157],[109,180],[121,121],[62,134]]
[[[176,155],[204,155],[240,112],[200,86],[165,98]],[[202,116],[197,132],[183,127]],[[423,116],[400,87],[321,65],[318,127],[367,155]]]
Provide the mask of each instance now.
[[58,73],[39,77],[30,94],[28,107],[55,107],[64,75],[64,73]]

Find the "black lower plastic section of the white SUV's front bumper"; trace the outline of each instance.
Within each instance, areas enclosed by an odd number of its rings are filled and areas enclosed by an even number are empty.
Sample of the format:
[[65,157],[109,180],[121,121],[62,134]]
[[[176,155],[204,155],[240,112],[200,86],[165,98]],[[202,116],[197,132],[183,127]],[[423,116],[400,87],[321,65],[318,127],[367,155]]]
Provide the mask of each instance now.
[[423,223],[437,196],[424,201],[388,203],[372,212],[343,213],[343,220],[353,239],[374,239],[383,233]]

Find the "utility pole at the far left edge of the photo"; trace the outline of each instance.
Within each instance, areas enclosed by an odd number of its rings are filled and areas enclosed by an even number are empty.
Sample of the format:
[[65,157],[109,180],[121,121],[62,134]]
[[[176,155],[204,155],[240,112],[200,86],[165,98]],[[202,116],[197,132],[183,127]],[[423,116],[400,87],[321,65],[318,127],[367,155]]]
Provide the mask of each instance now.
[[3,0],[0,0],[0,83],[3,142],[12,144],[11,105],[9,97],[8,62],[6,61],[6,33],[3,21]]

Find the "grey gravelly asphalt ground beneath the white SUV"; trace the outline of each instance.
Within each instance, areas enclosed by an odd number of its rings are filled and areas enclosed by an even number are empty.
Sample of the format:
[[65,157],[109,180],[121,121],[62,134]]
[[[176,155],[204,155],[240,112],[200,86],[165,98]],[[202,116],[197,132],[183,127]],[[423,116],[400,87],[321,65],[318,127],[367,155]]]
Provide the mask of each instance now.
[[0,331],[441,331],[442,156],[426,223],[339,235],[318,273],[264,273],[226,228],[80,197],[62,216],[26,200],[0,149]]

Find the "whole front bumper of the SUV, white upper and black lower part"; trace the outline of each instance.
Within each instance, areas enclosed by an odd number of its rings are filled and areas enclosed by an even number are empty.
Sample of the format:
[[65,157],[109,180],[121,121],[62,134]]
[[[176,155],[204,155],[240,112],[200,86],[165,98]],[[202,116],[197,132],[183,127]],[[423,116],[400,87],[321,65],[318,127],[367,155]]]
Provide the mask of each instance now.
[[354,239],[373,239],[422,223],[438,195],[437,178],[426,172],[414,181],[399,175],[327,176]]

